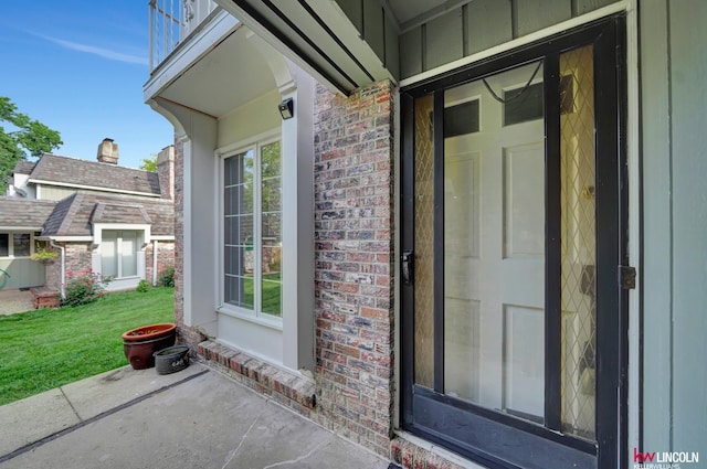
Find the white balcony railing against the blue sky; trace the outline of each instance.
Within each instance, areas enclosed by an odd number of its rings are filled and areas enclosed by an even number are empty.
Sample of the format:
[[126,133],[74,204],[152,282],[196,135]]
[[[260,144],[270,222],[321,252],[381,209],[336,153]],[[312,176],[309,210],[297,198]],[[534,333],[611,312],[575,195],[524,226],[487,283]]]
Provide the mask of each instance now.
[[217,8],[212,0],[149,0],[150,73]]

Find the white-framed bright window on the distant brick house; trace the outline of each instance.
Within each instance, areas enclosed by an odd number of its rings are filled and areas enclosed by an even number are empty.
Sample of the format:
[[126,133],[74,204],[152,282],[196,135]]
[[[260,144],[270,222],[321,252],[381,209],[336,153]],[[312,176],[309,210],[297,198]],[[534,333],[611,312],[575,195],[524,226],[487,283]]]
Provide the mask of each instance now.
[[101,276],[123,278],[137,276],[139,235],[133,230],[103,230],[101,239]]

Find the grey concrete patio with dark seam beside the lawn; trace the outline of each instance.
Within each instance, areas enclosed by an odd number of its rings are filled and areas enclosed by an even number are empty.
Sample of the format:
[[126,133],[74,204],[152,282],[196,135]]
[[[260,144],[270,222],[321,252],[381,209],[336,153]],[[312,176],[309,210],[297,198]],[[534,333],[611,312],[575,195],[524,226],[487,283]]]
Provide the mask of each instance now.
[[0,468],[386,469],[389,462],[192,363],[129,366],[0,407]]

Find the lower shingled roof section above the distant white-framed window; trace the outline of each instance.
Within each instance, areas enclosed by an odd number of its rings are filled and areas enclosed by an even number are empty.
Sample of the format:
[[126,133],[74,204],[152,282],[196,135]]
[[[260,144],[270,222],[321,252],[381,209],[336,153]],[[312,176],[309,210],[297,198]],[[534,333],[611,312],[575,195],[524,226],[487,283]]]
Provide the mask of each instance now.
[[169,236],[175,232],[173,205],[162,199],[78,191],[56,204],[42,236],[91,236],[94,223],[151,225],[152,236]]

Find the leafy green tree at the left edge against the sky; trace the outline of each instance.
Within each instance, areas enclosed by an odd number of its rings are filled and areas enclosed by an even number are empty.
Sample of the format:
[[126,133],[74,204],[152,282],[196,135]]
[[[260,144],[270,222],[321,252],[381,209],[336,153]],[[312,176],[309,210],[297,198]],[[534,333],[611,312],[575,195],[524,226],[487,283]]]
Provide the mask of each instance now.
[[63,142],[56,130],[18,113],[14,103],[4,96],[0,96],[0,124],[9,124],[12,129],[0,126],[0,194],[4,194],[18,161],[40,157]]

